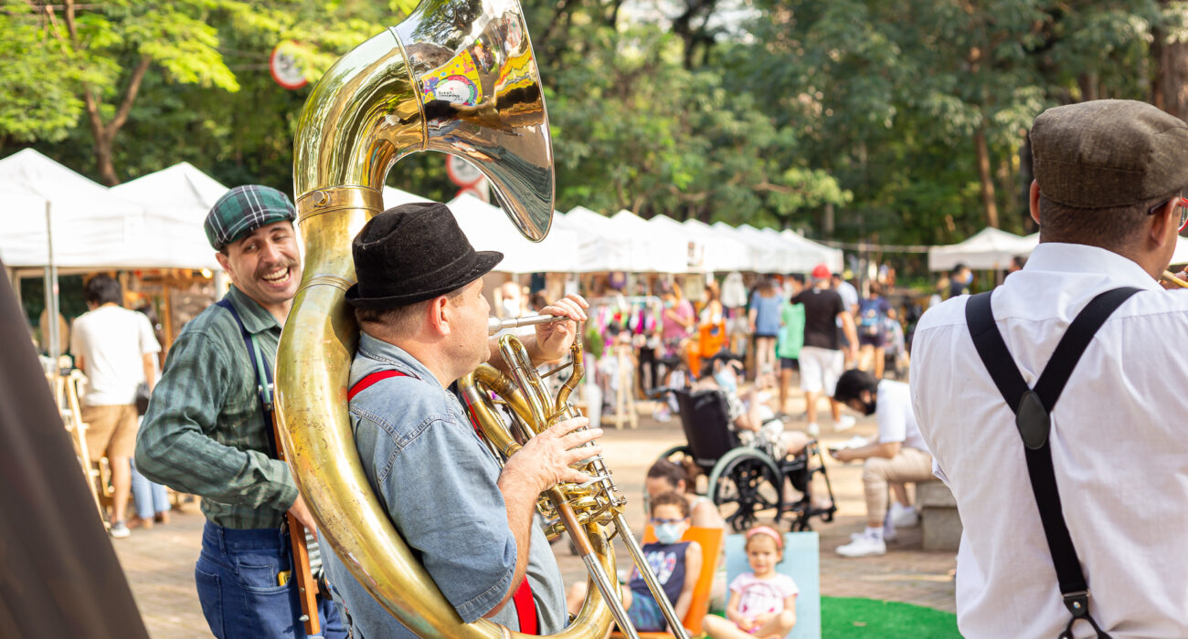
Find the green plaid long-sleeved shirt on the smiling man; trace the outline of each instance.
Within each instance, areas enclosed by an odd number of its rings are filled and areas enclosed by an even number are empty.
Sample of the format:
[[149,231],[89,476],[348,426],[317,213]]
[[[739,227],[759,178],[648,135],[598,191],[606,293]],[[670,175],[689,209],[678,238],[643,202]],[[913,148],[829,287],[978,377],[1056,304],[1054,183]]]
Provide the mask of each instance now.
[[[227,298],[274,362],[280,324],[232,286]],[[273,367],[274,369],[276,367]],[[211,304],[169,350],[137,436],[137,469],[202,496],[207,519],[229,529],[278,527],[297,499],[284,462],[272,457],[264,411],[239,324]]]

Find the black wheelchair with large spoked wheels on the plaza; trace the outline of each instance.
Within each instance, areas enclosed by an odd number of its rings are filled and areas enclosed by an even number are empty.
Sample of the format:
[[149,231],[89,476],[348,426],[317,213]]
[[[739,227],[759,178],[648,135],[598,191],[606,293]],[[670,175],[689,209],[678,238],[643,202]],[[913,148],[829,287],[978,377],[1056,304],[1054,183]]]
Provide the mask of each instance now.
[[[792,532],[810,530],[810,519],[833,521],[836,506],[833,486],[826,473],[821,447],[809,439],[801,454],[788,456],[775,450],[779,444],[757,437],[744,444],[729,428],[725,397],[718,391],[690,393],[665,388],[676,398],[681,425],[688,441],[672,447],[659,458],[681,463],[691,460],[709,477],[706,494],[735,532],[744,532],[763,517],[779,524],[786,517]],[[814,461],[815,460],[815,461]],[[809,486],[820,473],[829,498],[828,507],[813,506]],[[789,498],[788,488],[800,494]]]

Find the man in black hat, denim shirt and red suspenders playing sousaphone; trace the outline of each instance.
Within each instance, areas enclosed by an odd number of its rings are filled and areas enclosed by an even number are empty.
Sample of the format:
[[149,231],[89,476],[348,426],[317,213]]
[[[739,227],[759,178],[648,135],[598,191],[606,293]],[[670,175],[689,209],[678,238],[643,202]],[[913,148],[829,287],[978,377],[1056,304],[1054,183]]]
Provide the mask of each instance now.
[[[352,251],[359,283],[346,297],[361,335],[349,411],[368,482],[463,621],[558,632],[567,622],[564,586],[533,525],[536,500],[557,482],[589,479],[569,464],[598,454],[599,447],[575,447],[602,431],[574,432],[588,424],[584,417],[561,422],[503,469],[479,439],[450,387],[492,355],[481,278],[503,254],[475,252],[444,204],[384,211],[364,226]],[[586,320],[584,308],[584,299],[569,296],[541,310],[571,321],[537,327],[536,339],[525,340],[533,362],[568,353],[573,321]],[[354,637],[416,637],[340,558],[324,555]]]

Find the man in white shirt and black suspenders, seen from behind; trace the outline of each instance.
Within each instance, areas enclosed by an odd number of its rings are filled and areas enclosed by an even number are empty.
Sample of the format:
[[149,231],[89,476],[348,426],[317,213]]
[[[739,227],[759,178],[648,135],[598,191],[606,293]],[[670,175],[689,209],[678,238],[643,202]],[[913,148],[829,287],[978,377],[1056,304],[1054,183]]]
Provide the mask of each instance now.
[[[930,309],[912,404],[965,532],[966,637],[1188,637],[1188,293],[1157,279],[1188,201],[1188,125],[1142,102],[1031,129],[1040,246]],[[1062,634],[1063,637],[1064,634]]]

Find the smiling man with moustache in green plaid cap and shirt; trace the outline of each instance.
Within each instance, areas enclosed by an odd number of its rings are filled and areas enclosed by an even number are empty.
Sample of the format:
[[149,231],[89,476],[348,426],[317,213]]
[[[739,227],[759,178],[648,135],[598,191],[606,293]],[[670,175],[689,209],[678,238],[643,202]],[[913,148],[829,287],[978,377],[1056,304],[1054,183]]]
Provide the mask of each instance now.
[[[137,437],[141,474],[202,496],[194,578],[219,638],[305,637],[296,580],[285,581],[284,515],[315,524],[273,454],[270,406],[258,392],[301,281],[295,216],[289,197],[268,186],[236,186],[215,202],[204,227],[232,287],[177,336]],[[328,600],[320,616],[322,637],[346,637]]]

